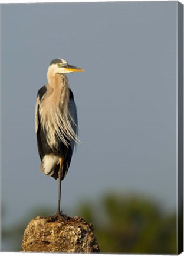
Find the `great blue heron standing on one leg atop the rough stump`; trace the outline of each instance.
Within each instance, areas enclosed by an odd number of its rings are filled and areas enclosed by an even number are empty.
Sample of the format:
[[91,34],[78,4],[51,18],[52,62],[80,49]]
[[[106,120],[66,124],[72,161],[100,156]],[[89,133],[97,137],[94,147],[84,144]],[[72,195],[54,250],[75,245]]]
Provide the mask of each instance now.
[[64,59],[54,59],[47,71],[48,84],[40,88],[35,107],[35,132],[41,159],[40,170],[58,178],[58,207],[60,216],[61,180],[68,172],[74,145],[78,142],[77,108],[69,88],[66,73],[84,69],[68,65]]

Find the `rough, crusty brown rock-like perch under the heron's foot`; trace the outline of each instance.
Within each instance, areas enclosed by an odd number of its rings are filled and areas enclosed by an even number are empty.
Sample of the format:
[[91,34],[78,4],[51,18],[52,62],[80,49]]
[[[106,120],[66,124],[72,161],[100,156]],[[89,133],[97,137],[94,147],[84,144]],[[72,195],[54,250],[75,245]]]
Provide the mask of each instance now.
[[99,252],[93,225],[80,217],[36,217],[24,231],[22,252]]

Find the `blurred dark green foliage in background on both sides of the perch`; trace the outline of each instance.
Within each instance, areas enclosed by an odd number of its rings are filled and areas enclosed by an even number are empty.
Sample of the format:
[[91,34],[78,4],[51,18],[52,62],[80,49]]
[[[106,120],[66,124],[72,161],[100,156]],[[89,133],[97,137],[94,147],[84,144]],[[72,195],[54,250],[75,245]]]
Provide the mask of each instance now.
[[[176,213],[166,213],[151,199],[137,194],[108,193],[97,203],[87,201],[77,214],[93,223],[101,253],[176,254]],[[35,210],[11,230],[2,229],[8,251],[20,251],[25,226],[35,216],[51,210]],[[7,247],[7,246],[6,246]]]

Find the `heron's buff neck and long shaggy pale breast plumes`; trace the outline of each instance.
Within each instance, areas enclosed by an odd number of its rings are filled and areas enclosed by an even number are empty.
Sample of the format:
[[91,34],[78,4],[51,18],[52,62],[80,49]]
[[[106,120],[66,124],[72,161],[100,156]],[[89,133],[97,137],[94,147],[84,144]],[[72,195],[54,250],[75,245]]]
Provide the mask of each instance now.
[[68,102],[70,89],[68,85],[67,76],[64,74],[55,74],[50,76],[47,85],[47,94],[40,105],[41,122],[43,129],[47,132],[47,142],[52,148],[57,146],[55,135],[66,146],[68,141],[73,139],[78,142],[71,124],[73,119],[68,111]]

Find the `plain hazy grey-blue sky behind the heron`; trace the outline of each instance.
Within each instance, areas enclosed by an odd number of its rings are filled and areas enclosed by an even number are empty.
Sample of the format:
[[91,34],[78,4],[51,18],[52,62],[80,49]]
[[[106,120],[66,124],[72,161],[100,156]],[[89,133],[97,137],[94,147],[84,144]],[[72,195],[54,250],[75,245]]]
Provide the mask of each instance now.
[[64,209],[109,190],[176,207],[176,7],[2,5],[5,221],[15,223],[33,207],[57,207],[58,184],[39,171],[34,133],[37,91],[55,57],[86,70],[68,75],[82,143],[63,181]]

